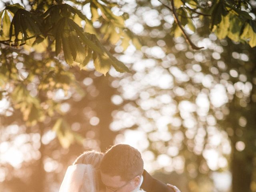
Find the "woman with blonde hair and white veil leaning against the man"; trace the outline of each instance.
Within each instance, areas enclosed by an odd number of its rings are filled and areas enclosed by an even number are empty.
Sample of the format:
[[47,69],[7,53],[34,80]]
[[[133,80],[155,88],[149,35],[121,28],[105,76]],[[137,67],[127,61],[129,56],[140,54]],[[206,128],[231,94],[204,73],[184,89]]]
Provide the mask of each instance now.
[[[100,187],[100,162],[104,154],[86,151],[71,166],[68,166],[59,192],[98,192]],[[104,190],[103,190],[104,191]]]

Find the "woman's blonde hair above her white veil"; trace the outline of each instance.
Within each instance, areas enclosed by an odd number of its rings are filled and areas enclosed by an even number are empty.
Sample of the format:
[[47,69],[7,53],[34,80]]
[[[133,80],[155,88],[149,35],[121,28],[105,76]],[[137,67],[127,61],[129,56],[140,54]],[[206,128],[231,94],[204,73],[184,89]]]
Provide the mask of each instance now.
[[96,170],[100,168],[100,162],[104,156],[104,153],[95,150],[83,152],[76,160],[75,164],[91,164]]

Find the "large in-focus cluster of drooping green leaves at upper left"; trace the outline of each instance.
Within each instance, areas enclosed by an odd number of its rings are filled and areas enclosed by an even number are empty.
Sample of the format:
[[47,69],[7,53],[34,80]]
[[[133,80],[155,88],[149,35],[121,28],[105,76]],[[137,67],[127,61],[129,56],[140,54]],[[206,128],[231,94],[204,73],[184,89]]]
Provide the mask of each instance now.
[[[63,53],[70,66],[79,66],[80,69],[85,69],[86,64],[94,60],[96,70],[104,75],[111,66],[118,72],[129,72],[122,62],[104,48],[98,40],[99,36],[90,36],[90,33],[86,32],[91,29],[92,33],[96,33],[93,22],[103,20],[104,26],[109,26],[109,23],[112,26],[111,30],[106,29],[104,41],[110,39],[110,42],[115,44],[124,38],[123,34],[126,38],[124,42],[129,42],[132,39],[130,31],[117,33],[115,30],[115,27],[124,29],[124,18],[114,15],[110,10],[116,4],[108,4],[108,7],[96,0],[85,1],[84,4],[89,2],[91,20],[68,4],[52,5],[41,15],[35,15],[19,4],[7,6],[0,12],[0,42],[16,48],[25,45],[31,50],[33,47],[38,52],[51,50],[55,51],[56,56]],[[101,14],[98,10],[101,10]],[[82,28],[81,21],[86,23],[86,27]],[[102,30],[102,33],[105,32]],[[134,38],[133,41],[139,46],[138,40]],[[125,48],[127,46],[126,43]]]

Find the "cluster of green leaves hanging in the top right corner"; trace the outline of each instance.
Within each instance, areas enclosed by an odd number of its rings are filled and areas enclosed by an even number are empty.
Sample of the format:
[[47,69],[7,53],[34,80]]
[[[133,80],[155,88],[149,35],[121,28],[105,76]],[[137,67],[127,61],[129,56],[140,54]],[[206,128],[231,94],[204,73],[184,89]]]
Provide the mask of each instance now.
[[[210,19],[210,31],[219,39],[230,38],[234,42],[248,43],[256,46],[256,21],[250,13],[253,6],[249,0],[212,0],[208,2],[198,0],[170,0],[174,3],[180,26],[174,24],[172,34],[182,35],[182,29],[187,26],[192,32],[196,31],[196,18]],[[167,6],[165,4],[165,6]],[[173,9],[167,6],[171,11]]]

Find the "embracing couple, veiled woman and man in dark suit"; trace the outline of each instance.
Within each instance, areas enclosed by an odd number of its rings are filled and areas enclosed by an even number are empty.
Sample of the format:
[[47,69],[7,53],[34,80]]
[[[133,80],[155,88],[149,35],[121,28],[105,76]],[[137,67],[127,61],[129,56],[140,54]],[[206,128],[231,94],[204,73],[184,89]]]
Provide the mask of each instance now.
[[180,192],[143,169],[140,152],[126,144],[87,151],[69,166],[59,192]]

